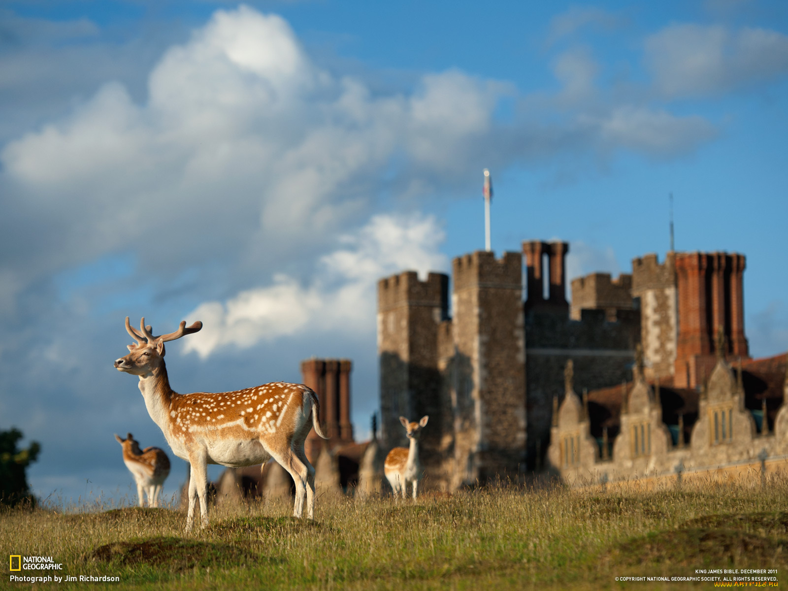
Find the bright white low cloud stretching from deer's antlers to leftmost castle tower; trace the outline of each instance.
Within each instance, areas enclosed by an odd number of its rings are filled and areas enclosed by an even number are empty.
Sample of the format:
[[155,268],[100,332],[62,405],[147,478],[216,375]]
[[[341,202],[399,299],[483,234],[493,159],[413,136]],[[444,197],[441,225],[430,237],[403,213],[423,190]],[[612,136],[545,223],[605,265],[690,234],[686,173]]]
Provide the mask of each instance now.
[[448,266],[437,247],[444,233],[433,217],[374,216],[346,246],[323,256],[310,284],[277,274],[273,285],[249,289],[221,302],[202,303],[187,314],[204,328],[185,341],[184,353],[207,357],[229,345],[249,348],[295,334],[330,332],[359,339],[375,329],[375,287],[403,269],[422,273]]

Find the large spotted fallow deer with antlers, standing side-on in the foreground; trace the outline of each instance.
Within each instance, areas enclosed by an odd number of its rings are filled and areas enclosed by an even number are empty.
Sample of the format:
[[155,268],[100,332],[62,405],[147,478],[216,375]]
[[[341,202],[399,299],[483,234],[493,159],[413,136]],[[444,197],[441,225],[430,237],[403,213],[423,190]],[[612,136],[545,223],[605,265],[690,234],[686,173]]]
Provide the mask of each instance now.
[[209,463],[240,467],[275,459],[296,483],[293,514],[301,517],[306,497],[307,517],[314,519],[314,468],[303,442],[313,427],[326,439],[318,423],[318,397],[305,385],[282,382],[217,394],[173,392],[164,364],[164,344],[202,328],[199,321],[186,328],[184,321],[174,333],[153,336],[145,318],[137,332],[127,316],[126,330],[137,343],[128,345],[129,354],[115,361],[117,370],[139,376],[148,414],[162,429],[173,453],[191,464],[186,530],[194,525],[195,496],[201,526],[208,524]]

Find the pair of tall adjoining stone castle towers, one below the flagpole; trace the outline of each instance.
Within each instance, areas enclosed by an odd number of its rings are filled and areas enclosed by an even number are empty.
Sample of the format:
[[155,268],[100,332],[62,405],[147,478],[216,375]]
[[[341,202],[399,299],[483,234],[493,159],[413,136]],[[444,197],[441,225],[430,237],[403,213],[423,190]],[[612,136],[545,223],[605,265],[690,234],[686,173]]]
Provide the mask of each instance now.
[[406,444],[400,415],[429,414],[422,463],[440,488],[524,461],[521,261],[484,251],[455,258],[453,319],[444,274],[378,283],[383,444]]

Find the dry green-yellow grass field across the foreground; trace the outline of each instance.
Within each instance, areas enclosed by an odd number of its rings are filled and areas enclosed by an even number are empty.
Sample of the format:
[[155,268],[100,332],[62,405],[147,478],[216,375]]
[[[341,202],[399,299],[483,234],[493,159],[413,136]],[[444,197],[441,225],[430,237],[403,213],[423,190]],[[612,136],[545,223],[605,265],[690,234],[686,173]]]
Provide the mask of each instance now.
[[[52,556],[64,564],[59,576],[121,578],[69,585],[91,589],[686,589],[615,577],[788,572],[783,480],[657,492],[500,487],[398,503],[318,498],[314,522],[291,511],[212,508],[210,526],[187,535],[185,515],[170,509],[17,509],[0,514],[0,539],[7,554]],[[7,568],[0,587],[32,588],[9,583]]]

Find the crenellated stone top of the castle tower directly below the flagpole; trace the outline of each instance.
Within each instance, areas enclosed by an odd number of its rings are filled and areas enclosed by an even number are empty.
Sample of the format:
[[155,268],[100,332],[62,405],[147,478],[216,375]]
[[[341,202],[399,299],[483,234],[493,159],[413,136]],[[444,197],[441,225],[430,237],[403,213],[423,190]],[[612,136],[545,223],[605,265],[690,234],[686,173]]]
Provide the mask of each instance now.
[[496,259],[492,252],[476,251],[452,262],[454,291],[468,288],[522,289],[522,255],[504,252]]

